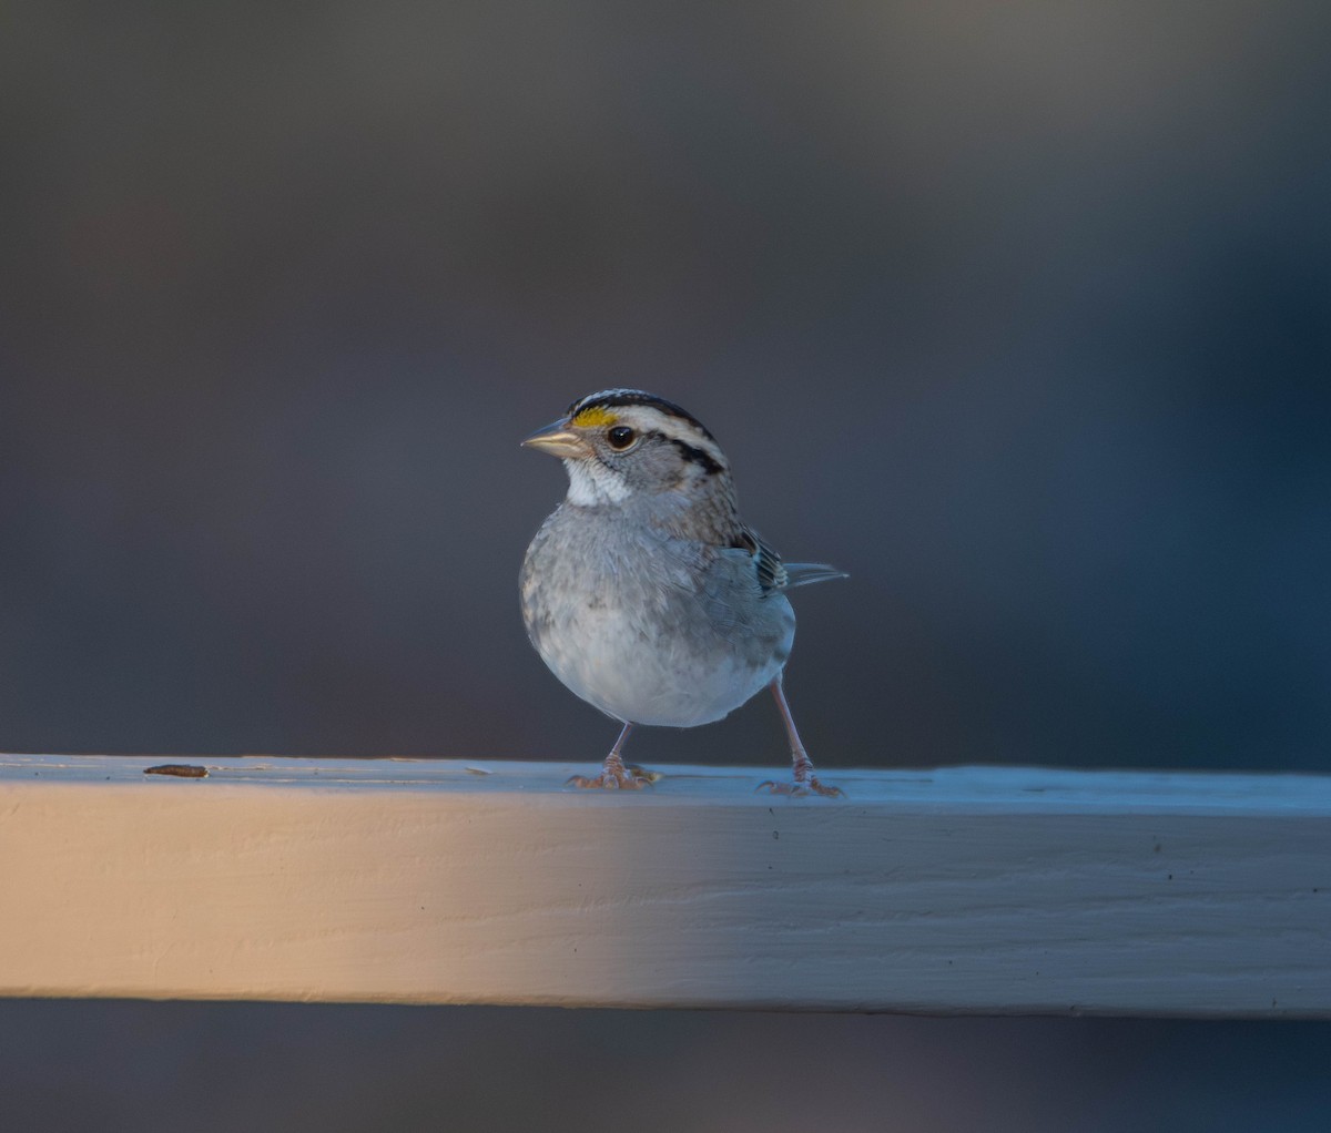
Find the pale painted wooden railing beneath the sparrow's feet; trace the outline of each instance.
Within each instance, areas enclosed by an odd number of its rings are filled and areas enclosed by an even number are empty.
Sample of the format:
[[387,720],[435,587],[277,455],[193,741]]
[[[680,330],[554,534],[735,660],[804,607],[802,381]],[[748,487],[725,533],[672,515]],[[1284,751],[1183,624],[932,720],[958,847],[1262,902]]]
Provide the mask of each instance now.
[[0,755],[0,993],[1331,1016],[1328,777],[166,762]]

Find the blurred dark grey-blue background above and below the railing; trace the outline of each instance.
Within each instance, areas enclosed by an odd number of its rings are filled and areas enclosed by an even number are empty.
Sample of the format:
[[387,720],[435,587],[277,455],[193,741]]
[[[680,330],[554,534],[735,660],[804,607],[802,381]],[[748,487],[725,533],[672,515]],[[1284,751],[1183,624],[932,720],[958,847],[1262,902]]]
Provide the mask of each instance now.
[[[1319,0],[5,3],[0,747],[599,759],[522,632],[564,485],[518,440],[631,384],[851,570],[788,678],[829,771],[1327,769],[1327,43]],[[785,759],[765,703],[632,754]],[[0,1003],[0,1051],[15,1129],[1331,1105],[1312,1024]]]

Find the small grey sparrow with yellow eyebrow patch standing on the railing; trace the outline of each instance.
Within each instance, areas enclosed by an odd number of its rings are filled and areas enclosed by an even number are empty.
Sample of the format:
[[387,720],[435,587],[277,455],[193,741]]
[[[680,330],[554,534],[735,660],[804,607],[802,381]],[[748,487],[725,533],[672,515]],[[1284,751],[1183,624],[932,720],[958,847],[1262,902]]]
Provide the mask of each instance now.
[[568,492],[527,548],[531,644],[576,695],[622,723],[600,774],[578,787],[636,790],[639,725],[695,727],[764,688],[791,743],[791,779],[760,789],[841,795],[815,774],[783,689],[795,640],[787,592],[847,574],[783,563],[739,515],[731,465],[692,414],[644,390],[600,390],[522,441],[559,457]]

